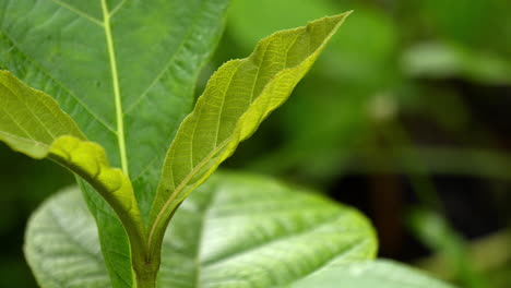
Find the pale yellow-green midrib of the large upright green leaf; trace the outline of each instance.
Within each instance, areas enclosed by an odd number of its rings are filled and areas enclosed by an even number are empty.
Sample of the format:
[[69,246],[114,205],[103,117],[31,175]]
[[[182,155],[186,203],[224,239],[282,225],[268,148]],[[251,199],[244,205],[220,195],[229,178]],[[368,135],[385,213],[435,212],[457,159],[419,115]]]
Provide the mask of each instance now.
[[[114,12],[117,12],[118,8]],[[116,122],[117,122],[117,142],[119,146],[119,156],[121,161],[122,172],[129,177],[128,168],[128,156],[126,153],[126,137],[124,137],[124,120],[122,118],[122,100],[120,94],[119,85],[119,74],[117,72],[117,60],[116,60],[116,49],[114,46],[114,37],[111,35],[110,27],[110,16],[112,13],[108,11],[108,5],[106,0],[102,0],[102,11],[103,11],[103,27],[105,31],[105,37],[107,41],[108,58],[110,60],[110,72],[111,72],[111,82],[114,86],[114,98],[116,106]]]

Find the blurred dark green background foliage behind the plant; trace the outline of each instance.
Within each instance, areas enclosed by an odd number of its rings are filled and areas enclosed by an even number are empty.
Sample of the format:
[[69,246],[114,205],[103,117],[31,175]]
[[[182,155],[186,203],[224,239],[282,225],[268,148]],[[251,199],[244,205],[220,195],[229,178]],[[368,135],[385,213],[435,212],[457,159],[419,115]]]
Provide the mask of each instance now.
[[[233,0],[209,75],[277,29],[355,10],[292,98],[224,167],[365,212],[380,255],[511,287],[511,1]],[[0,144],[0,287],[36,287],[29,214],[72,176]]]

